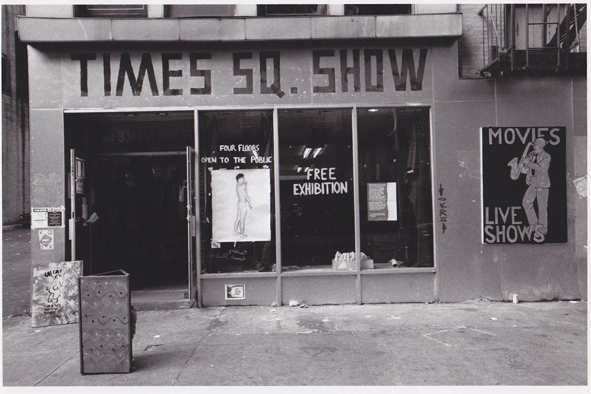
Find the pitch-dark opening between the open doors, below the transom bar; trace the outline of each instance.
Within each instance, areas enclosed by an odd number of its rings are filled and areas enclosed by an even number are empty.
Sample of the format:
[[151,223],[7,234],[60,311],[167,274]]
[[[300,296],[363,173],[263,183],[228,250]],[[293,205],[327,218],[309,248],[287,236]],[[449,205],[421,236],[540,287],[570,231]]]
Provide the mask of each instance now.
[[132,290],[187,289],[186,155],[97,157],[93,272],[124,269]]

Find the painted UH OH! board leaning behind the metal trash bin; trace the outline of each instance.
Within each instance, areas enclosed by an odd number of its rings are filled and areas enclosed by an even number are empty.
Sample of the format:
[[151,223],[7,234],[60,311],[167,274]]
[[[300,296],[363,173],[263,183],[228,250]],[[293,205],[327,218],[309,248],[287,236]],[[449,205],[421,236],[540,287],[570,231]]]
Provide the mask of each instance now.
[[82,261],[33,266],[33,327],[78,322],[78,277]]

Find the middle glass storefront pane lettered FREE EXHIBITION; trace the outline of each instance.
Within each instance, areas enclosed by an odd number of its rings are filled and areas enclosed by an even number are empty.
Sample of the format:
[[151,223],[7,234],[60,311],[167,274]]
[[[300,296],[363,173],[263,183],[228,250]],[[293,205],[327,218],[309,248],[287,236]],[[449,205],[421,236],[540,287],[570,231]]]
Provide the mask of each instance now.
[[332,269],[355,251],[350,109],[278,110],[281,266]]

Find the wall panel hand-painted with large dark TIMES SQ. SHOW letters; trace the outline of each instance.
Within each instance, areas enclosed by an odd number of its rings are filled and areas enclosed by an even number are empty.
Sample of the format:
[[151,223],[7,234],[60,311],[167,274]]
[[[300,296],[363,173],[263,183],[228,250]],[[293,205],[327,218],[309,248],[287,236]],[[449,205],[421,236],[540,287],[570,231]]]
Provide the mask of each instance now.
[[61,66],[66,106],[421,102],[433,89],[431,51],[420,47],[85,51],[63,54]]

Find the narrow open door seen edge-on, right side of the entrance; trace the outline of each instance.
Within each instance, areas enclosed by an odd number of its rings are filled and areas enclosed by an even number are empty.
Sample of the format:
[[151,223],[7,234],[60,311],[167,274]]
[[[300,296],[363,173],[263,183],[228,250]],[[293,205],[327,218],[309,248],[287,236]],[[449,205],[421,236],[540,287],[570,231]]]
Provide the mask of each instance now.
[[189,299],[197,296],[197,153],[187,146],[187,257],[189,259]]

